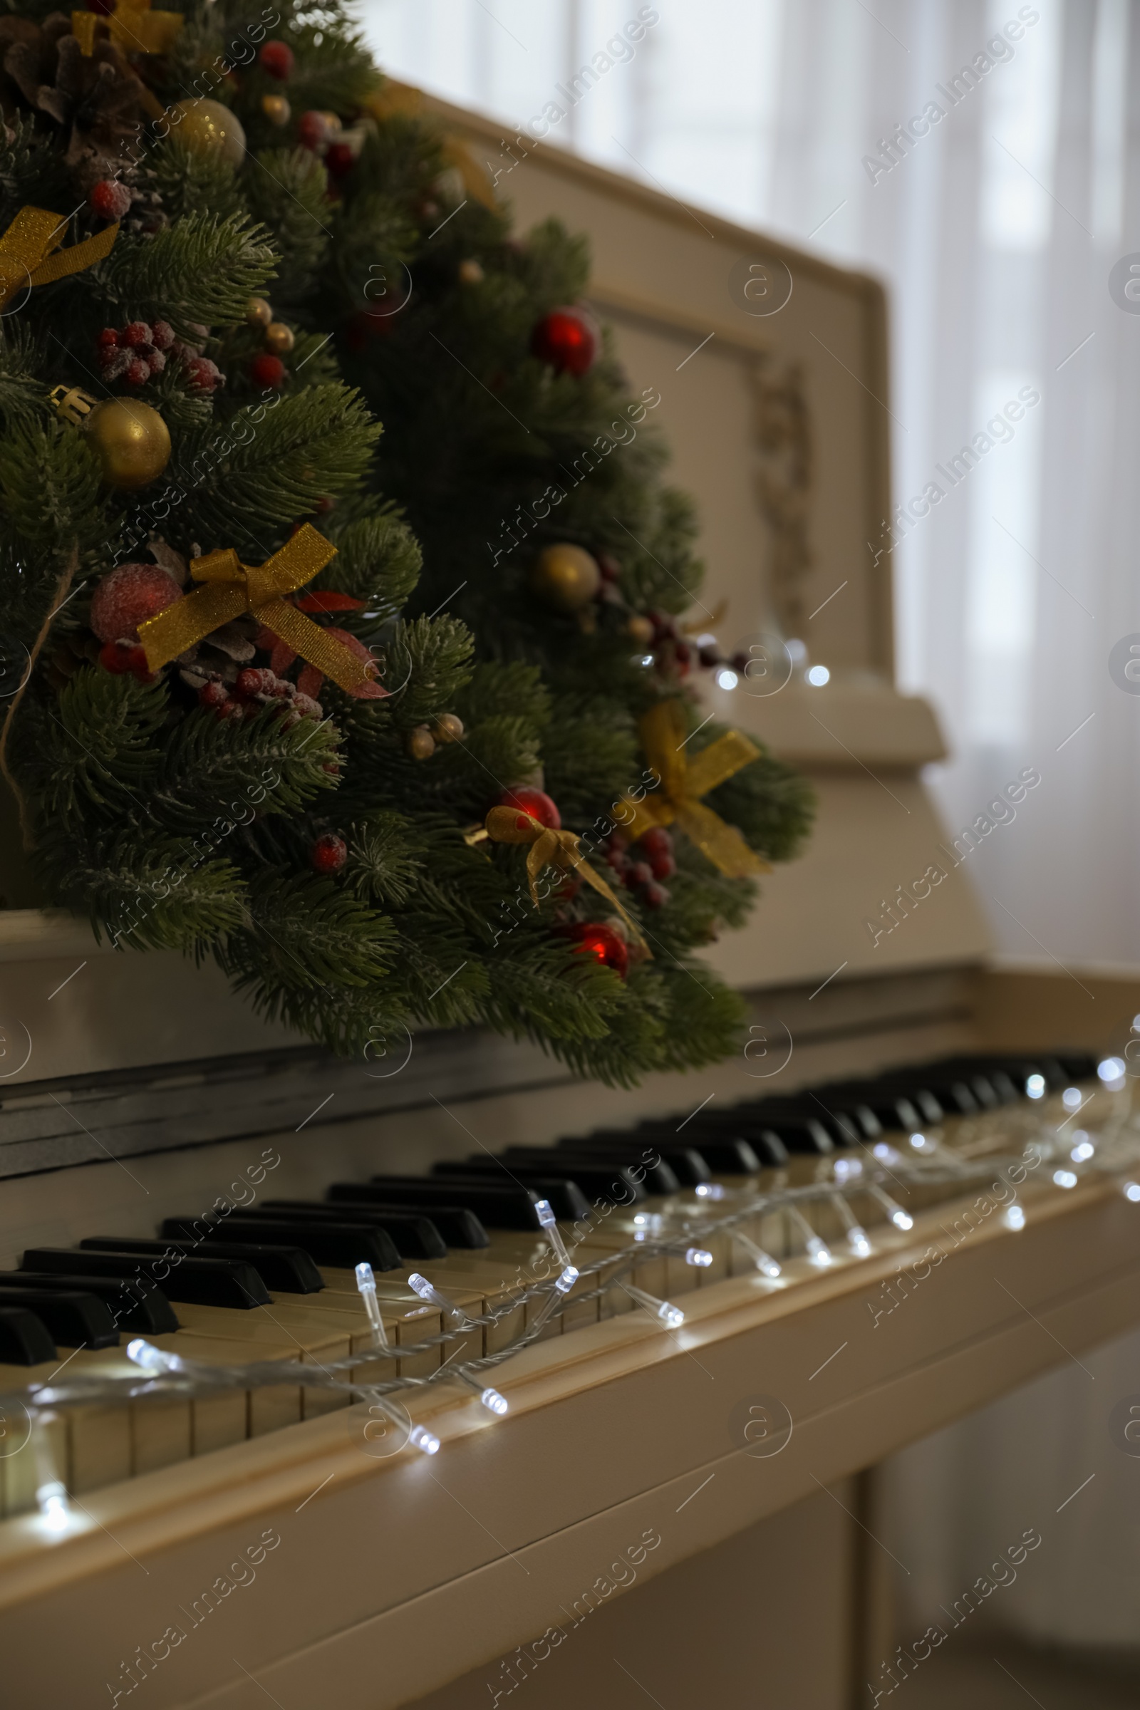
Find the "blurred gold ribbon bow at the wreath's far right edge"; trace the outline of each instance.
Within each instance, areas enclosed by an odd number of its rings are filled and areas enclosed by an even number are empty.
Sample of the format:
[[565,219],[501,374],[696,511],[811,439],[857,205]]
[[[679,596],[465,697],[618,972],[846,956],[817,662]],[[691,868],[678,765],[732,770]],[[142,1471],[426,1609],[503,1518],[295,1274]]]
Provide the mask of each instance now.
[[620,819],[622,831],[636,843],[651,826],[677,823],[685,836],[708,855],[728,879],[749,879],[757,872],[771,872],[743,841],[735,826],[726,826],[720,814],[699,800],[725,778],[732,778],[761,751],[738,730],[728,730],[709,742],[692,761],[685,758],[685,715],[680,701],[658,701],[641,720],[641,744],[661,785],[653,793],[634,802],[622,797],[622,805],[632,817]]

